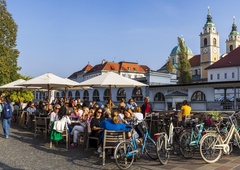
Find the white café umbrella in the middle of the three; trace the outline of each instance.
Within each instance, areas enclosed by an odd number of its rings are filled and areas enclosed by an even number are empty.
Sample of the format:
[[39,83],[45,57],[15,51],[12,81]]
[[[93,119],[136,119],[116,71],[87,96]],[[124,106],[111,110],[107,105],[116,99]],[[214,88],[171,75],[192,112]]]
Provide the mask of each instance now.
[[50,90],[55,90],[58,88],[65,88],[65,87],[71,88],[71,87],[76,86],[76,83],[68,81],[65,78],[56,76],[52,73],[45,73],[41,76],[32,78],[23,83],[20,83],[19,85],[25,86],[25,87],[38,86],[38,87],[42,87],[44,89],[48,89],[48,97],[49,97]]

